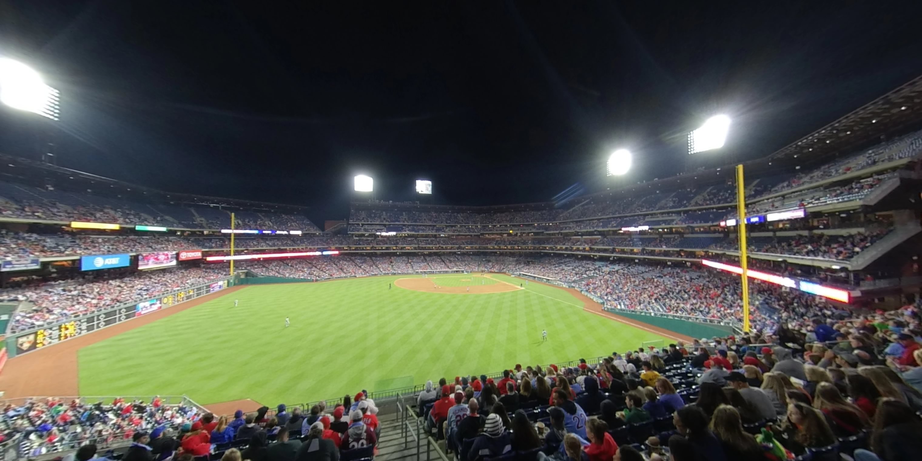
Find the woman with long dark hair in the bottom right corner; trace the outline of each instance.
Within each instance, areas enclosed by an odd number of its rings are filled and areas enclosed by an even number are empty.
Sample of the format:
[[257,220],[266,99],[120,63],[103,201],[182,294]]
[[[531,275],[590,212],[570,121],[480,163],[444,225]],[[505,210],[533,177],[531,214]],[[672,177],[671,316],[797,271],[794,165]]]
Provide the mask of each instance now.
[[[922,421],[908,405],[892,398],[881,398],[874,417],[870,448],[883,461],[918,459],[922,454]],[[855,452],[855,459],[862,450]]]

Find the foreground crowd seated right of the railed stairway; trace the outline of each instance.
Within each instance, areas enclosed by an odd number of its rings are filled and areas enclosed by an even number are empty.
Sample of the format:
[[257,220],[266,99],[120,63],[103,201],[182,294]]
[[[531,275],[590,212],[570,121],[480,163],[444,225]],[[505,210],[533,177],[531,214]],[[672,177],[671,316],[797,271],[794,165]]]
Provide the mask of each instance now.
[[441,378],[417,412],[465,461],[916,459],[917,306],[826,318]]

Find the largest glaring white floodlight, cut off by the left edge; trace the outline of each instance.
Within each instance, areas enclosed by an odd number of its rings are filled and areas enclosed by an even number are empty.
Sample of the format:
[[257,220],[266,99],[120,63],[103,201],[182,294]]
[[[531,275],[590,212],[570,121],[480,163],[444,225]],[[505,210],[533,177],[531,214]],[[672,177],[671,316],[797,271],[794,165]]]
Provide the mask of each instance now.
[[30,66],[9,58],[0,58],[0,101],[52,120],[57,120],[60,114],[58,90],[45,85]]

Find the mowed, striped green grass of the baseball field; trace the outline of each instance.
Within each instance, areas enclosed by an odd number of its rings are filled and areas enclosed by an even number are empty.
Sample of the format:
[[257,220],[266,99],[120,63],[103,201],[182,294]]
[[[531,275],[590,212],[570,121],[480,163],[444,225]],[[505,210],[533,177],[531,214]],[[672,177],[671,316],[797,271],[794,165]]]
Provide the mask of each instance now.
[[[534,282],[495,294],[387,289],[405,277],[249,286],[80,349],[80,394],[252,398],[275,407],[669,342]],[[437,277],[443,286],[472,278]]]

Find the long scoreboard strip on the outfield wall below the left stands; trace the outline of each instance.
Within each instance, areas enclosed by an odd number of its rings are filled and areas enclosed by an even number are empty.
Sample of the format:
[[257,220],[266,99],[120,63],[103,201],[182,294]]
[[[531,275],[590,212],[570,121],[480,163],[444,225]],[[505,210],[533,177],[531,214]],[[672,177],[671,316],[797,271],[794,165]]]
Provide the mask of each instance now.
[[[133,319],[143,313],[170,307],[183,301],[194,300],[199,296],[223,290],[230,284],[228,280],[208,283],[192,289],[171,291],[155,298],[147,298],[121,307],[92,313],[57,325],[47,326],[16,336],[16,355],[51,346],[72,337],[78,337],[106,326],[115,325]],[[155,309],[156,307],[156,309]]]

